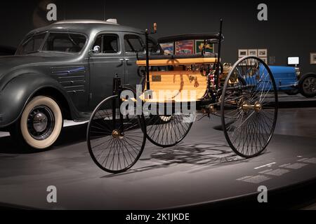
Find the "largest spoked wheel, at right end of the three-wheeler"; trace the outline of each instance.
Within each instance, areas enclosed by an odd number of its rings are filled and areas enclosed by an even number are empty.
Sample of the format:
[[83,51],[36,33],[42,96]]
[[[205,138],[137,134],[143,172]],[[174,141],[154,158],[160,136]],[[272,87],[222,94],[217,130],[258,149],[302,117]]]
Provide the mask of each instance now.
[[277,89],[268,65],[258,57],[239,59],[220,101],[223,131],[232,150],[244,158],[262,153],[277,123]]

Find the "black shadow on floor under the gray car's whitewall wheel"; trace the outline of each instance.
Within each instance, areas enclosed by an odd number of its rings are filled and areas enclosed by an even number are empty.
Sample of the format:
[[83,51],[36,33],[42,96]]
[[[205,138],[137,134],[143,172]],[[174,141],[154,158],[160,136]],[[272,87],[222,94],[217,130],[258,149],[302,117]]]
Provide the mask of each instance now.
[[[55,144],[51,148],[48,148],[44,151],[51,151],[86,141],[86,127],[87,124],[64,127]],[[0,153],[29,154],[43,152],[29,148],[27,146],[19,145],[17,142],[13,141],[10,136],[1,137],[0,146]]]

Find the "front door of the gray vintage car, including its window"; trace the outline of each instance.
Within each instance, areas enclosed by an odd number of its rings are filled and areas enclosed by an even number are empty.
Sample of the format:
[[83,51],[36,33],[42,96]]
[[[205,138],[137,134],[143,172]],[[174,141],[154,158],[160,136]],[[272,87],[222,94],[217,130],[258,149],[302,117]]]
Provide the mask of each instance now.
[[121,83],[125,83],[124,52],[121,49],[119,34],[102,33],[96,37],[89,57],[91,109],[112,95],[112,80],[116,73],[121,77]]

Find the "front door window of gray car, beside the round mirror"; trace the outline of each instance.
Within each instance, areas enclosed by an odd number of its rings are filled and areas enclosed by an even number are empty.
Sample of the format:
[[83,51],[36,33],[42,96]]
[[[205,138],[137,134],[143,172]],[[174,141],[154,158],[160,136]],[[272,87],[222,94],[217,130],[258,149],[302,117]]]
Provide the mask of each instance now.
[[[98,45],[104,54],[119,52],[119,36],[115,34],[101,34],[96,38],[93,48]],[[92,48],[92,49],[93,49]]]

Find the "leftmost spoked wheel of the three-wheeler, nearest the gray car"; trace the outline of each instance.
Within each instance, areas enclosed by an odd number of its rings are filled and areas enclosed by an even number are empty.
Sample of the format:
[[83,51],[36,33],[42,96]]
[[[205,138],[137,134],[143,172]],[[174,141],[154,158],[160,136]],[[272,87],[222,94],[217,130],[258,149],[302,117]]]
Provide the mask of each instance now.
[[111,173],[131,168],[145,147],[145,120],[143,116],[119,110],[119,97],[112,96],[93,111],[88,123],[88,151],[100,169]]

